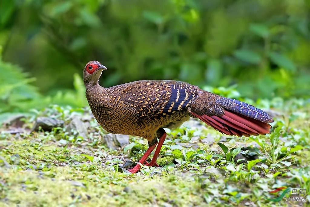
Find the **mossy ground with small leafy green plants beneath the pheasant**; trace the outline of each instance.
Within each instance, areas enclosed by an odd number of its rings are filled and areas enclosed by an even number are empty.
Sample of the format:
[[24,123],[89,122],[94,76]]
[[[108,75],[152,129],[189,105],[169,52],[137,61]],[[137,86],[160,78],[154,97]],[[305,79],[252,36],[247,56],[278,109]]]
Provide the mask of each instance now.
[[[158,164],[141,172],[122,172],[138,161],[146,141],[130,137],[116,150],[104,144],[106,132],[89,109],[51,106],[32,110],[24,133],[0,134],[1,206],[308,206],[310,200],[310,103],[307,100],[259,101],[275,116],[273,132],[251,137],[225,136],[191,120],[167,140]],[[64,127],[29,133],[38,116],[64,120]],[[67,130],[73,117],[87,137]],[[133,163],[134,164],[134,163]],[[306,189],[306,202],[286,201],[290,190]]]

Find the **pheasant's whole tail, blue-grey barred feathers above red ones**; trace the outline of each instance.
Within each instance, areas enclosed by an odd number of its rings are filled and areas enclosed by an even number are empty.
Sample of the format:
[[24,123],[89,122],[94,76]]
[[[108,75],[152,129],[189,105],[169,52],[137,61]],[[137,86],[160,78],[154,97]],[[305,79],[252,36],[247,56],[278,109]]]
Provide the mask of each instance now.
[[241,137],[270,133],[273,122],[272,116],[263,110],[235,99],[221,97],[216,100],[224,108],[222,116],[197,115],[191,112],[201,121],[227,135]]

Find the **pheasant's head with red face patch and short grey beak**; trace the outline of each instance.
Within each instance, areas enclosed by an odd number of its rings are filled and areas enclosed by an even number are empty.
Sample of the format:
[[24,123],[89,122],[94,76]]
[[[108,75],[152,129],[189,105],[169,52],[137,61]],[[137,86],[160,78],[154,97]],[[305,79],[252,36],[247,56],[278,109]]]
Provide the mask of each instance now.
[[83,79],[85,86],[98,84],[102,70],[107,70],[104,65],[101,65],[98,61],[88,62],[83,71]]

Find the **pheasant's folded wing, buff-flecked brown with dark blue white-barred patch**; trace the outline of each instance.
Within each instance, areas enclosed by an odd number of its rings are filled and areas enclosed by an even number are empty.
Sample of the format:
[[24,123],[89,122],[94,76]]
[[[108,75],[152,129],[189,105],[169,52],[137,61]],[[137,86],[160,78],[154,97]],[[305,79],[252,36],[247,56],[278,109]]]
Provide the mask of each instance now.
[[161,119],[188,107],[198,96],[198,87],[173,80],[135,81],[126,84],[121,97],[139,119]]

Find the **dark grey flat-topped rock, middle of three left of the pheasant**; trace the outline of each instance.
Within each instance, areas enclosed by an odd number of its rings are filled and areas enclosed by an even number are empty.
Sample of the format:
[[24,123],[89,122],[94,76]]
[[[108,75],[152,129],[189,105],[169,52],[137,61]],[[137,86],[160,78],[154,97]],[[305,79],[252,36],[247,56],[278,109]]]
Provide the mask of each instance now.
[[50,118],[50,117],[38,117],[30,133],[34,131],[39,131],[40,127],[44,131],[51,131],[52,128],[55,128],[55,127],[64,127],[64,121],[60,119]]

